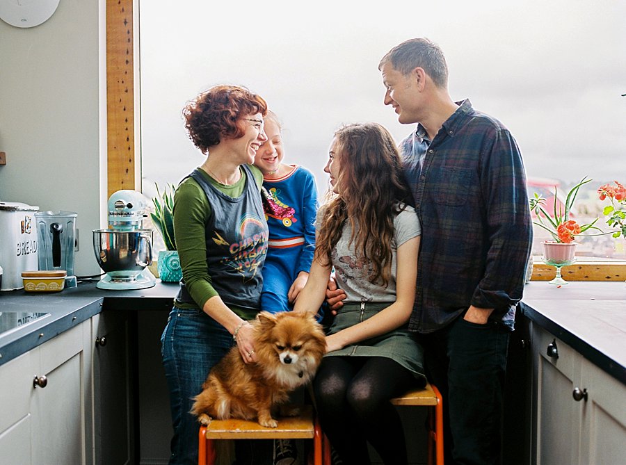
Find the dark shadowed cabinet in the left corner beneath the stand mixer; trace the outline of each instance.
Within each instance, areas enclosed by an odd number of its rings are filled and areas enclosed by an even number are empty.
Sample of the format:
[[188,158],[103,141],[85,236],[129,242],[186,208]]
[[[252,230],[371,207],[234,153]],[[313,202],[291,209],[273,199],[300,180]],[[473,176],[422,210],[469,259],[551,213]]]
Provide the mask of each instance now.
[[102,311],[92,320],[94,454],[97,465],[134,459],[134,405],[129,353],[130,321],[125,311]]

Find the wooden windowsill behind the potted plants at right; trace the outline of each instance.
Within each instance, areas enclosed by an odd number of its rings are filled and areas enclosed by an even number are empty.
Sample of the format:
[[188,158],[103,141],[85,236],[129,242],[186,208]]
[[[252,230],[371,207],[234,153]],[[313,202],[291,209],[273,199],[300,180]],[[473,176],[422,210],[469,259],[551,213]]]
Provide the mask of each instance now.
[[[549,281],[554,278],[554,266],[535,259],[532,281]],[[561,274],[566,281],[626,281],[626,261],[595,261],[578,257],[577,263],[563,266]]]

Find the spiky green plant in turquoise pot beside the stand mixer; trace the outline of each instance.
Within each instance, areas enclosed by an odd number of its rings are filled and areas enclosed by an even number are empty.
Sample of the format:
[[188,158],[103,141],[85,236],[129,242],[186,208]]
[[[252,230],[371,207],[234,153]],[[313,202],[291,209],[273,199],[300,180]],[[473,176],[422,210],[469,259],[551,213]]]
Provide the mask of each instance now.
[[163,282],[179,282],[182,279],[180,259],[176,250],[176,240],[174,237],[174,192],[176,188],[173,184],[166,184],[163,192],[157,186],[157,197],[152,197],[154,212],[150,212],[150,218],[154,227],[159,230],[166,250],[159,251],[157,270]]

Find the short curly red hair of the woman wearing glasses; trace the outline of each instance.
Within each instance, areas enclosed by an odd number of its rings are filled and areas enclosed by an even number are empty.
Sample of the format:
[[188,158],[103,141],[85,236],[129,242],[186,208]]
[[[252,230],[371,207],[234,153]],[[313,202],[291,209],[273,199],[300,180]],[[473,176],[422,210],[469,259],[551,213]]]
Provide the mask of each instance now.
[[265,116],[266,101],[239,85],[215,85],[183,109],[188,136],[203,154],[208,154],[209,148],[223,138],[243,136],[237,120],[252,113]]

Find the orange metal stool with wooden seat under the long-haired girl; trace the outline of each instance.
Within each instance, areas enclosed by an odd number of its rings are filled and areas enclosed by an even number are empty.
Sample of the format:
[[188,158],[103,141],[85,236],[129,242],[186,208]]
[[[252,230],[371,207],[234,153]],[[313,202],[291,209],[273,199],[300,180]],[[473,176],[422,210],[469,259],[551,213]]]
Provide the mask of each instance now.
[[[413,389],[391,400],[393,405],[428,407],[428,465],[444,465],[443,400],[439,389],[426,383],[424,389]],[[330,442],[323,437],[323,465],[330,465]]]

